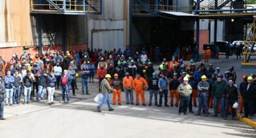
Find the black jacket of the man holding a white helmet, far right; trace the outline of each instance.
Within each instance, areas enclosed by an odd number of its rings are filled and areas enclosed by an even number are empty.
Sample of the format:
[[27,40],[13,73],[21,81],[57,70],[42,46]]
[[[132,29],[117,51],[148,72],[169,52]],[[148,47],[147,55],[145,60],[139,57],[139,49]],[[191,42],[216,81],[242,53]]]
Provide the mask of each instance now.
[[225,86],[223,94],[225,95],[226,99],[238,101],[238,91],[233,85],[231,87],[229,85]]

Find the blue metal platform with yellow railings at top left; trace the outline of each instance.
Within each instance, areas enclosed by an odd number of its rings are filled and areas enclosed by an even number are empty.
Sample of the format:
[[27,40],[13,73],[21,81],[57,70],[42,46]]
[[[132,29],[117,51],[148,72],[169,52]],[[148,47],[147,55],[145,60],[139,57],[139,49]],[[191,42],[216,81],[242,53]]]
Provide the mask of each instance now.
[[30,0],[31,13],[101,14],[102,0]]

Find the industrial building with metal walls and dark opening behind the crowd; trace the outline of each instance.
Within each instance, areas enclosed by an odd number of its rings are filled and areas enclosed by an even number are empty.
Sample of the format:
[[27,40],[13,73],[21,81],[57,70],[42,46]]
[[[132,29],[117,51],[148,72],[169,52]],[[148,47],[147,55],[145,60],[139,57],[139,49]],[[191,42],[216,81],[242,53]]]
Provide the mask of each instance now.
[[[3,0],[1,55],[245,40],[255,9],[243,0]],[[4,51],[8,52],[4,52]],[[167,55],[165,55],[167,56]]]

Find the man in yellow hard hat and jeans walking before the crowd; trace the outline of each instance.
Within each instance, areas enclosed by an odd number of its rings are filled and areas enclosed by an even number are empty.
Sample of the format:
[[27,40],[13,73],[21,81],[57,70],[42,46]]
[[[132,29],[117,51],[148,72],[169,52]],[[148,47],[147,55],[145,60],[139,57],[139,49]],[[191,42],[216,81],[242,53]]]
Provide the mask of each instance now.
[[107,101],[107,105],[108,105],[108,111],[114,110],[114,108],[112,108],[110,105],[110,99],[108,96],[108,92],[115,92],[116,90],[110,88],[110,85],[108,83],[110,78],[111,78],[111,76],[109,74],[106,74],[105,78],[101,81],[100,92],[103,94],[103,98],[102,98],[101,102],[99,103],[99,105],[97,106],[97,112],[101,112],[100,108],[106,101]]

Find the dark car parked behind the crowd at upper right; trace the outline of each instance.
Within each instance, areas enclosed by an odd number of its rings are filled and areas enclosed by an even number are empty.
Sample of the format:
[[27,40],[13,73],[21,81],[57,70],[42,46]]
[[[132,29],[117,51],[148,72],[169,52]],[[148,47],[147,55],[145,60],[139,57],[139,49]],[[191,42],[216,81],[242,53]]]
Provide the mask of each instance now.
[[[227,47],[230,48],[230,55],[233,55],[235,53],[235,46],[231,44],[229,41],[216,41],[217,46],[219,46],[219,52],[226,52]],[[210,44],[204,44],[203,49],[210,47],[211,50],[214,49],[214,42],[211,42]]]

